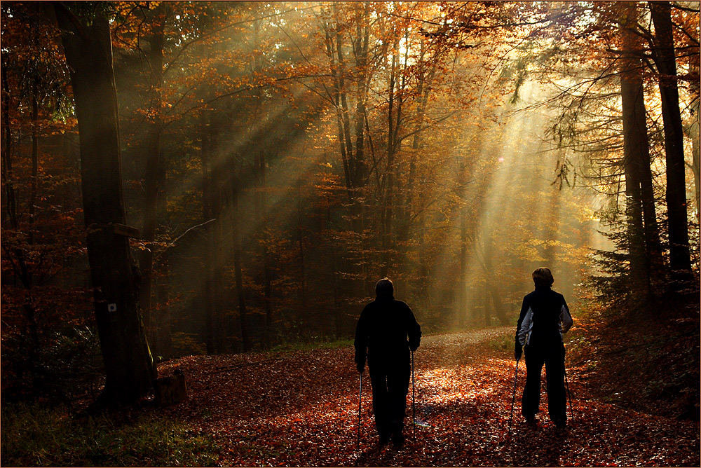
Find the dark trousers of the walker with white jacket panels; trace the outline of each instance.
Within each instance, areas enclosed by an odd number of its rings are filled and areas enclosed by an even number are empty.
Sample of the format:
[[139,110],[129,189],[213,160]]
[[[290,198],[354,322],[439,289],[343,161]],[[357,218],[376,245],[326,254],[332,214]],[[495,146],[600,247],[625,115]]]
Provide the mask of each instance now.
[[540,406],[540,372],[545,364],[547,413],[551,421],[566,421],[565,347],[562,343],[550,346],[524,346],[526,356],[526,387],[521,399],[521,413],[532,418]]

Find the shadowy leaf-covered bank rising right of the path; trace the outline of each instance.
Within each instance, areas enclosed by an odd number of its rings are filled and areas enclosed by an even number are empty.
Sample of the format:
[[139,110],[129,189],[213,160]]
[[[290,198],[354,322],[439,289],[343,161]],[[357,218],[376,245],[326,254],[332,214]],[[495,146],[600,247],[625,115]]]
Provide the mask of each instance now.
[[698,298],[672,296],[641,308],[596,308],[578,317],[568,343],[588,396],[634,411],[700,418]]

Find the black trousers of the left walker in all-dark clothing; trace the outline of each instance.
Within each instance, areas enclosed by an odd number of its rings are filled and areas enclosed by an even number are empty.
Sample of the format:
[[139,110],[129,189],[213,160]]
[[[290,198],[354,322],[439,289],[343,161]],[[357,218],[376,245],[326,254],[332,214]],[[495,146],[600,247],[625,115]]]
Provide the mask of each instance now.
[[381,437],[398,434],[404,428],[411,365],[368,362],[372,385],[372,411]]

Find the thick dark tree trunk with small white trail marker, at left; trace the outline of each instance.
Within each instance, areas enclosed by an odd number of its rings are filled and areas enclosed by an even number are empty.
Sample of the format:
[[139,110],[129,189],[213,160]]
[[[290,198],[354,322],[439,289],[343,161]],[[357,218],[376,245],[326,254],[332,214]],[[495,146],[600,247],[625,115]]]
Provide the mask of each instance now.
[[117,99],[109,21],[83,21],[53,4],[70,69],[80,135],[83,214],[90,279],[106,373],[101,404],[131,403],[149,392],[156,370],[139,311],[139,275],[125,223]]

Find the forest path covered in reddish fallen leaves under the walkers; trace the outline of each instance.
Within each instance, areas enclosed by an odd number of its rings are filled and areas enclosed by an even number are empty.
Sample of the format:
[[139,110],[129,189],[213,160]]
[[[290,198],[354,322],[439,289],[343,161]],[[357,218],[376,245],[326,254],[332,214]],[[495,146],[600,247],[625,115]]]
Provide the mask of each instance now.
[[[212,434],[222,466],[698,466],[699,425],[596,401],[573,399],[566,434],[519,415],[519,366],[512,438],[512,327],[423,338],[415,353],[416,428],[411,388],[400,449],[379,447],[364,373],[361,439],[353,348],[185,357],[161,375],[186,373],[189,399],[167,412]],[[569,385],[578,396],[576,371]]]

